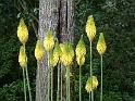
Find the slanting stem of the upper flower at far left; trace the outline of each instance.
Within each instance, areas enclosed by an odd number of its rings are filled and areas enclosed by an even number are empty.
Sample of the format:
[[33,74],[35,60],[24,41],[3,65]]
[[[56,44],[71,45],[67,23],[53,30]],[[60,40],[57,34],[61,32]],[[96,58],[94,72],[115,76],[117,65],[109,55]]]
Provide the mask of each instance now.
[[[25,45],[24,49],[25,49]],[[28,78],[28,71],[27,71],[27,58],[26,58],[26,50],[24,50],[25,52],[25,70],[26,70],[26,79],[27,79],[27,87],[28,87],[28,93],[29,93],[29,101],[32,101],[32,93],[30,93],[30,86],[29,86],[29,78]]]

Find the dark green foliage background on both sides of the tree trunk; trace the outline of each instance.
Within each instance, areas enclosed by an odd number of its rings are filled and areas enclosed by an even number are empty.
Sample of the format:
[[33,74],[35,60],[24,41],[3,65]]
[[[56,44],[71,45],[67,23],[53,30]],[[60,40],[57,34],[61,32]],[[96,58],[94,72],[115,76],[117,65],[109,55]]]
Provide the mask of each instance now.
[[[17,62],[21,43],[16,37],[16,28],[20,17],[24,17],[29,30],[26,49],[33,99],[35,99],[34,48],[38,4],[38,0],[0,0],[0,101],[24,99],[22,68]],[[83,66],[83,101],[88,101],[85,84],[89,75],[89,41],[85,34],[85,24],[87,16],[91,14],[97,26],[97,35],[93,42],[93,62],[94,73],[98,79],[100,79],[100,65],[96,45],[100,31],[105,34],[108,47],[103,55],[103,101],[135,101],[135,1],[76,0],[75,45],[83,34],[87,46],[86,62]],[[77,64],[74,70],[74,100],[78,101]],[[96,101],[99,101],[99,92],[100,87],[95,90]]]

